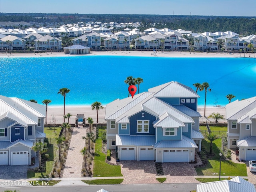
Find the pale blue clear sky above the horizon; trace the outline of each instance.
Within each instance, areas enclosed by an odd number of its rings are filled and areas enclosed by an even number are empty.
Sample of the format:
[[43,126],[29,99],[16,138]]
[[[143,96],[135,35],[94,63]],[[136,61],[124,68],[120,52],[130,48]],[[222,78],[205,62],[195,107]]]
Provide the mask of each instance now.
[[0,0],[4,13],[256,16],[255,0]]

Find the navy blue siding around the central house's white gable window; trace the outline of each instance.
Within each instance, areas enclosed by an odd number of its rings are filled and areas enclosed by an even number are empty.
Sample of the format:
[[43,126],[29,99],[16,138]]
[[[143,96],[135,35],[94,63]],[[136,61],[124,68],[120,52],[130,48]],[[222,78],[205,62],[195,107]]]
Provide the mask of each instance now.
[[[144,113],[144,117],[142,117]],[[137,120],[149,120],[149,133],[137,133]],[[155,128],[153,127],[152,122],[156,120],[156,117],[147,113],[139,112],[130,117],[130,135],[155,135]]]

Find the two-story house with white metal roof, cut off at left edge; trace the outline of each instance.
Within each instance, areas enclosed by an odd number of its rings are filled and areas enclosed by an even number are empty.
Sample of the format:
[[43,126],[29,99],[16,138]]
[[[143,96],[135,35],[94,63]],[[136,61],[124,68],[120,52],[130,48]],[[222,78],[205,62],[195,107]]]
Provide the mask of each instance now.
[[34,142],[46,138],[46,107],[19,98],[0,96],[0,165],[30,165]]

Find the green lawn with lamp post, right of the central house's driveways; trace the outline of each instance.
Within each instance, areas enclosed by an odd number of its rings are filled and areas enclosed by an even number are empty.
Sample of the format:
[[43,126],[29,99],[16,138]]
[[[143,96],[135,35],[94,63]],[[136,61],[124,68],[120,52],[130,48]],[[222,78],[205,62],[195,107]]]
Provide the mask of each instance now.
[[[202,140],[202,146],[206,151],[210,151],[210,142]],[[212,153],[214,156],[208,158],[208,164],[206,167],[196,168],[198,175],[214,175],[213,173],[220,172],[220,156],[219,148],[221,148],[221,138],[216,139],[212,144]],[[224,174],[225,173],[225,174]],[[246,164],[237,164],[231,160],[221,161],[221,176],[247,176]]]

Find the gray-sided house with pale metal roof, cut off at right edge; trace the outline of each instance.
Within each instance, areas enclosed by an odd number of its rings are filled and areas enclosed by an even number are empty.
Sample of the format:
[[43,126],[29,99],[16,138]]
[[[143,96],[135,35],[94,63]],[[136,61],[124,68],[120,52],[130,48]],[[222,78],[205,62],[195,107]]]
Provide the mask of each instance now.
[[226,105],[228,148],[239,148],[240,160],[256,160],[256,97]]

